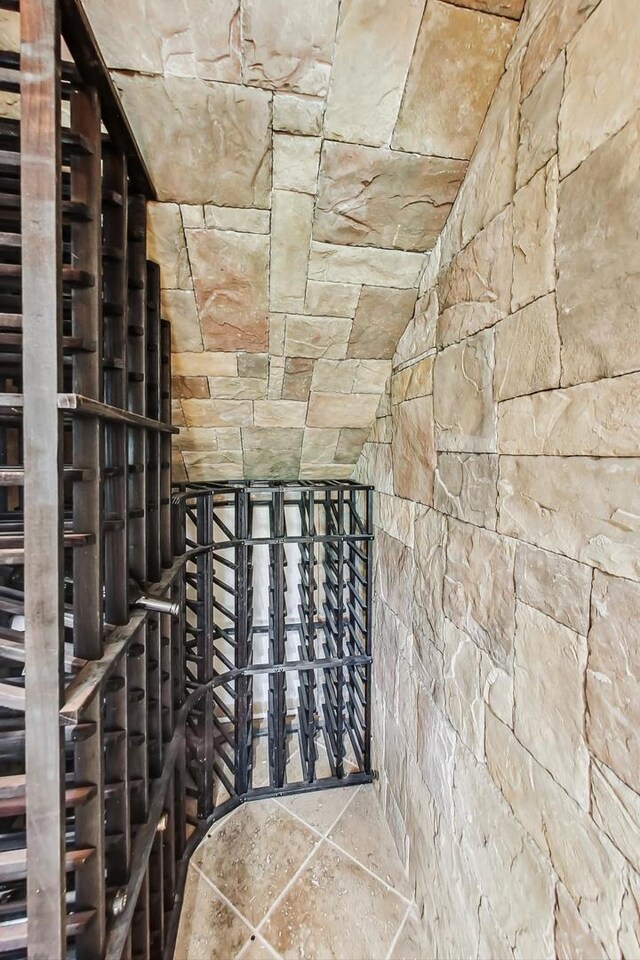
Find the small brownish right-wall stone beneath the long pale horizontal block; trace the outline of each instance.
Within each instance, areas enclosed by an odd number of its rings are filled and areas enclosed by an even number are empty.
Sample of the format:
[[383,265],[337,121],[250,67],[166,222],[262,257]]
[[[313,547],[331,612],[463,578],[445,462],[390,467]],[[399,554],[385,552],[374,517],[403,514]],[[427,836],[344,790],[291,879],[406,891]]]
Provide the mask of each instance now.
[[591,567],[528,543],[516,547],[518,599],[584,636],[589,629]]

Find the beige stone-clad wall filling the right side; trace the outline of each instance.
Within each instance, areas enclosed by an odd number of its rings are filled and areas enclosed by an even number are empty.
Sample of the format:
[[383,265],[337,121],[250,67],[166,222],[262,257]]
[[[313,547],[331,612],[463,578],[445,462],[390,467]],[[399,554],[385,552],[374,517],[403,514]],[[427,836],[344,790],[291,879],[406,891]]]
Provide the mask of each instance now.
[[636,0],[528,0],[356,476],[424,955],[640,956]]

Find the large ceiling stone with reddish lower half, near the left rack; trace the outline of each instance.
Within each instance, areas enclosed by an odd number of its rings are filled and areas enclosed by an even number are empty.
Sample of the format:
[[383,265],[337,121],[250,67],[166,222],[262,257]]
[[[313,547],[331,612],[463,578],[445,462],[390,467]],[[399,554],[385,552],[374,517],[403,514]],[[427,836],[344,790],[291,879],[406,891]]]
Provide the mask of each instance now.
[[221,230],[189,230],[188,234],[205,349],[265,351],[268,238]]

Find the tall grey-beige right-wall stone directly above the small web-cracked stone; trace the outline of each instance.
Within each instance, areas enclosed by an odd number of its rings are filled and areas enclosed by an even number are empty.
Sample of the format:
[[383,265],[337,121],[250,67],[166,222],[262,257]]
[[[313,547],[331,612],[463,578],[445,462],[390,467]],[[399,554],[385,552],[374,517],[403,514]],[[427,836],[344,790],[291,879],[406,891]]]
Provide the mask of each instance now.
[[493,453],[493,334],[485,330],[436,357],[433,410],[438,450]]

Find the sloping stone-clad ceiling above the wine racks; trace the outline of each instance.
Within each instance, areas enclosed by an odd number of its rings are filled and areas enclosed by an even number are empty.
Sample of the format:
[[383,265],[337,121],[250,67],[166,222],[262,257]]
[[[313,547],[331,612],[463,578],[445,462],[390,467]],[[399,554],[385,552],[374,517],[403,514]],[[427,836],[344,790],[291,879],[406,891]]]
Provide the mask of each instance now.
[[524,0],[85,0],[159,197],[177,477],[348,477]]

